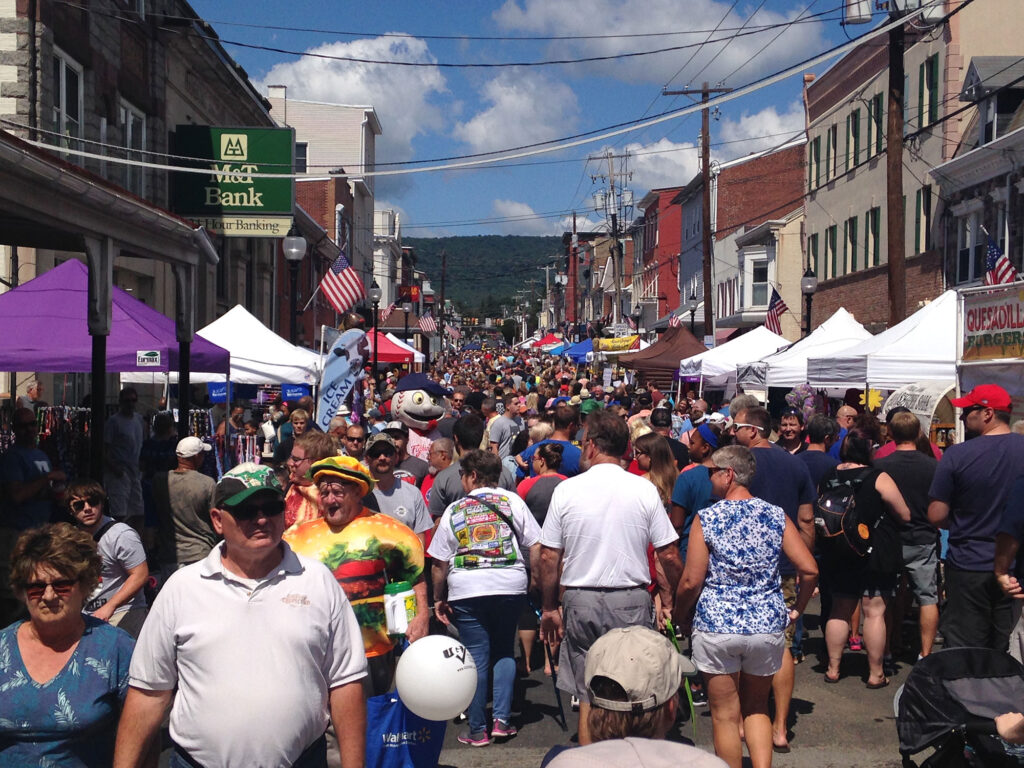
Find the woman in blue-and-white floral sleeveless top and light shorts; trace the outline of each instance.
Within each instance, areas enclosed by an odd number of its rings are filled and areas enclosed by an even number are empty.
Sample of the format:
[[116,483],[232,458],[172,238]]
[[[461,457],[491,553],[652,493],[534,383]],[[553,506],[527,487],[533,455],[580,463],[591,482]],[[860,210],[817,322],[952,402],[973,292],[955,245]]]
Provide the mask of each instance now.
[[[715,452],[713,461],[712,492],[721,501],[693,521],[676,616],[686,629],[696,604],[693,663],[708,690],[715,754],[740,768],[742,725],[751,764],[766,768],[772,757],[771,679],[782,666],[785,628],[807,607],[818,570],[782,509],[748,490],[757,468],[751,451],[730,445]],[[781,552],[800,582],[790,611],[778,572]]]

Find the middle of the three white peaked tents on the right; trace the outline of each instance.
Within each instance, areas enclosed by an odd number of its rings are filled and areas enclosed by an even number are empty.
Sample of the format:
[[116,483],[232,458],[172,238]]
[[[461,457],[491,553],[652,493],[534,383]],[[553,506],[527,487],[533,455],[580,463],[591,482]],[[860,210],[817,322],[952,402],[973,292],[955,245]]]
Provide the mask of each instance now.
[[807,381],[807,359],[827,357],[871,338],[852,314],[840,307],[805,339],[781,352],[740,366],[736,379],[744,387],[797,387]]

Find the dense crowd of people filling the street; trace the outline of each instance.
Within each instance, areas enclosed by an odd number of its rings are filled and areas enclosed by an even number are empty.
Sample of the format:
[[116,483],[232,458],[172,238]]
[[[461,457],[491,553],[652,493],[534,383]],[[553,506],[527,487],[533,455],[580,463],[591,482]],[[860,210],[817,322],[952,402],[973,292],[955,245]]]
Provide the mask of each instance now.
[[[1024,434],[997,386],[953,400],[969,439],[944,454],[906,409],[773,416],[530,352],[360,387],[327,432],[311,398],[269,426],[232,409],[266,461],[219,479],[209,441],[164,417],[146,438],[126,388],[103,482],[68,484],[18,407],[0,459],[0,766],[128,768],[165,748],[172,766],[360,766],[366,698],[393,689],[403,642],[452,632],[477,666],[464,744],[516,736],[517,671],[543,664],[580,712],[581,746],[546,764],[668,754],[650,741],[687,678],[718,756],[687,759],[737,768],[745,743],[761,767],[791,749],[815,596],[825,683],[861,647],[868,689],[940,638],[1024,651]],[[403,418],[399,393],[437,418]],[[416,598],[401,633],[394,584]]]

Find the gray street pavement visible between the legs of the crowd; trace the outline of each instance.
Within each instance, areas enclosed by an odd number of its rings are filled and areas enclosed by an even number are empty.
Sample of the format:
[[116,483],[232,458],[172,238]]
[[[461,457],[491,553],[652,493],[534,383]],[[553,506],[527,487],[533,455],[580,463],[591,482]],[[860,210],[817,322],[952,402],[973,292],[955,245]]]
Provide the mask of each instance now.
[[[880,690],[864,687],[867,657],[863,651],[847,651],[843,678],[836,685],[823,681],[824,641],[818,629],[817,600],[805,616],[809,636],[804,643],[806,660],[797,667],[797,685],[791,707],[792,752],[776,754],[772,765],[780,768],[899,768],[901,765],[893,696],[906,679],[912,657],[897,658],[897,674]],[[450,723],[440,766],[495,768],[502,766],[537,768],[555,744],[575,743],[577,713],[569,710],[569,697],[562,694],[568,731],[556,722],[558,712],[551,678],[543,668],[520,678],[513,702],[513,723],[519,735],[505,743],[473,748],[460,744],[456,737],[465,723]],[[713,752],[711,716],[707,708],[696,710],[696,745]],[[677,723],[670,738],[688,741],[693,731],[686,720]],[[745,762],[749,765],[749,762]],[[681,767],[682,768],[682,767]]]

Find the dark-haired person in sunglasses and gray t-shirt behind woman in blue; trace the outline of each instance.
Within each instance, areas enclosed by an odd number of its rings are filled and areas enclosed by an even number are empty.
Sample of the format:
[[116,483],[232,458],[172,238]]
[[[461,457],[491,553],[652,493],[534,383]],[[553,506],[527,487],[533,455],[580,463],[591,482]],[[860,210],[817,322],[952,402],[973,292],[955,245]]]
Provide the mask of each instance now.
[[68,506],[75,522],[92,537],[102,561],[99,584],[85,603],[85,612],[138,637],[148,609],[142,588],[150,580],[142,540],[130,525],[105,514],[106,494],[94,480],[68,488]]

